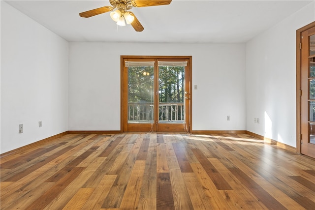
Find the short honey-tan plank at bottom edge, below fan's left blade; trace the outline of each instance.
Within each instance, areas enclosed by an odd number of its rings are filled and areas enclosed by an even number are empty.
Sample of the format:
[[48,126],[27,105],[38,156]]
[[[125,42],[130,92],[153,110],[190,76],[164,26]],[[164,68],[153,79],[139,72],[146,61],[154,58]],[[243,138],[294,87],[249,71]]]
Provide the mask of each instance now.
[[80,210],[91,194],[94,188],[80,188],[78,192],[71,198],[71,200],[65,205],[63,210]]

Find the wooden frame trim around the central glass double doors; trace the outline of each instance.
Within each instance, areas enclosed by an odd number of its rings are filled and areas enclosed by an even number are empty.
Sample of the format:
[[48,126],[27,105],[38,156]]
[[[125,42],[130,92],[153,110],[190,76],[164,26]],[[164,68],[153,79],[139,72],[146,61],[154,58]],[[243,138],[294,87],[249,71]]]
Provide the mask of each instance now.
[[124,97],[124,60],[126,59],[186,59],[189,60],[189,132],[191,132],[192,129],[192,56],[121,56],[120,57],[120,68],[121,68],[121,128],[120,131],[124,132],[124,115],[126,114],[126,110],[124,109],[124,102],[125,102],[125,97]]

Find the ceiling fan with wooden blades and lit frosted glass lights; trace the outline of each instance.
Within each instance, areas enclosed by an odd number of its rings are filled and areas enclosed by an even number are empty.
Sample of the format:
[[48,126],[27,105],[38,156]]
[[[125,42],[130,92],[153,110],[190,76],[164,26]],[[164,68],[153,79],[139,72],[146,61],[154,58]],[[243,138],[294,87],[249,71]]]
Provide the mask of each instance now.
[[89,18],[95,15],[99,15],[105,12],[115,11],[110,13],[110,17],[117,22],[119,26],[126,26],[131,24],[134,30],[142,31],[143,26],[133,14],[133,12],[127,11],[132,7],[145,7],[145,6],[159,6],[170,4],[172,0],[109,0],[112,6],[103,6],[97,9],[92,9],[86,12],[81,12],[79,15],[84,18]]

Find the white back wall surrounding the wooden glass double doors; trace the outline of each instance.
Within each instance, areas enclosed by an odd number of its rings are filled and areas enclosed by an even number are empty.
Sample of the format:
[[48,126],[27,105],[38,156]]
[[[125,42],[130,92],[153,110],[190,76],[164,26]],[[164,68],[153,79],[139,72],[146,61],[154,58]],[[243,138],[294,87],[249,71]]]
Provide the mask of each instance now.
[[69,130],[120,130],[121,55],[192,56],[192,130],[246,129],[245,44],[72,42],[69,50]]

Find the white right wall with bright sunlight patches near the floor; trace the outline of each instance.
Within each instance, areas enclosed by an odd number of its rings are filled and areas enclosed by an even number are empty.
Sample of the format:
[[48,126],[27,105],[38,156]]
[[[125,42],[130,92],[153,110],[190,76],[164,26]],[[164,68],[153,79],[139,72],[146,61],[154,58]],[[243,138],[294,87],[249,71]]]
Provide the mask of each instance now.
[[314,2],[246,44],[248,131],[296,147],[296,30],[313,21]]

